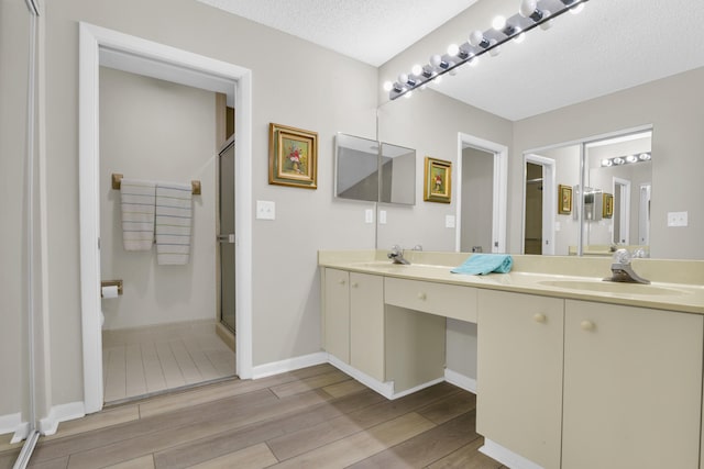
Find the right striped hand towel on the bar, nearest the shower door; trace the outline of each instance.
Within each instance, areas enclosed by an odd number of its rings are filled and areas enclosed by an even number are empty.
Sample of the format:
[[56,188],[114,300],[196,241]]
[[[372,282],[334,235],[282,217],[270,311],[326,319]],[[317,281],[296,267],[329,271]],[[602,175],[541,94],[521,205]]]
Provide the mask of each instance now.
[[193,219],[190,185],[156,185],[156,263],[188,264]]

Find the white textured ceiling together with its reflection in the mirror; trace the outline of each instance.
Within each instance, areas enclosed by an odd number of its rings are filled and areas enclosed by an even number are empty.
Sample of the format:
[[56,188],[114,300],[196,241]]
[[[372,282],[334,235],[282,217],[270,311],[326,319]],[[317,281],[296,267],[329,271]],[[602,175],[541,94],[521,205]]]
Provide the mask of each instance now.
[[[198,1],[374,66],[477,2]],[[704,0],[591,0],[579,15],[562,15],[549,31],[531,31],[522,44],[506,44],[499,56],[461,67],[436,89],[520,120],[704,66],[703,25]]]

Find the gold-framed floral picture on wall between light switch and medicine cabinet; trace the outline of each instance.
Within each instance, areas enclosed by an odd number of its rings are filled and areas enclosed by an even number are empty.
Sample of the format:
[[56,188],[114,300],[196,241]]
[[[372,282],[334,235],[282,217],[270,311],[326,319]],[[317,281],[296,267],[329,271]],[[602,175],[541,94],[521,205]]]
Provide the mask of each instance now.
[[318,188],[318,133],[270,124],[268,183]]

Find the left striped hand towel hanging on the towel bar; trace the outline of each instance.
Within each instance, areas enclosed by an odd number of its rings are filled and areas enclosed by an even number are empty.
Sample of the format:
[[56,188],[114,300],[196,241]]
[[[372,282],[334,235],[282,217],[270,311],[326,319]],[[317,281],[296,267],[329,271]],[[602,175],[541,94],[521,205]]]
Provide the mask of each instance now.
[[154,243],[155,182],[123,178],[120,182],[122,245],[125,250],[150,250]]

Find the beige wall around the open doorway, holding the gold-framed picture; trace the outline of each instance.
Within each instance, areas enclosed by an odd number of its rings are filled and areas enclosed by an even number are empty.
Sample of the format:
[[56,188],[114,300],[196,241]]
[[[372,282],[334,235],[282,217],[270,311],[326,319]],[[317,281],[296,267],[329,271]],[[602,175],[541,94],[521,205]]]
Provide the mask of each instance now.
[[[276,202],[277,216],[253,223],[254,365],[318,351],[317,250],[374,246],[369,205],[333,200],[332,161],[336,132],[374,135],[376,69],[190,0],[47,2],[45,21],[48,299],[52,337],[62,338],[52,340],[54,404],[82,399],[78,21],[252,69],[253,200]],[[318,190],[267,183],[270,122],[318,132]]]

